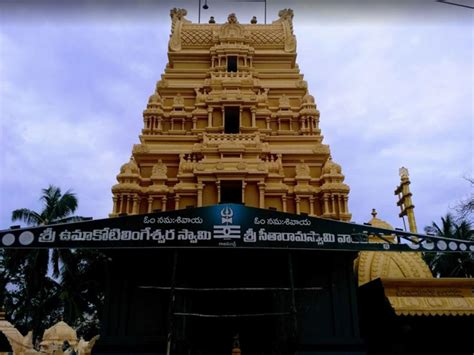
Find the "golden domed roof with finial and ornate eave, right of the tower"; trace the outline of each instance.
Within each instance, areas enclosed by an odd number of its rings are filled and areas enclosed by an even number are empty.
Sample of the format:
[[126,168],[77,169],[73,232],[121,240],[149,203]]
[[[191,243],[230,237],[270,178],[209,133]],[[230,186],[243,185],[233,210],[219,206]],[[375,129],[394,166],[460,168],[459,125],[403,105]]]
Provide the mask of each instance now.
[[[375,209],[369,223],[393,229],[377,218]],[[374,238],[370,242],[380,240]],[[435,279],[421,253],[363,251],[354,266],[359,286],[382,288],[397,315],[474,315],[474,280]]]

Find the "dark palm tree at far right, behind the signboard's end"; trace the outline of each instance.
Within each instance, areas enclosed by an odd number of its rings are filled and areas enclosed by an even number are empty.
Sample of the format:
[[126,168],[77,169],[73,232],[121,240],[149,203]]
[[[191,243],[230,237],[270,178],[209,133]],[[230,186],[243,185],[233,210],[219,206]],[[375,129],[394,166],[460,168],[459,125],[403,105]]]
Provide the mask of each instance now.
[[[446,238],[472,241],[474,231],[467,220],[456,221],[451,214],[441,218],[441,224],[433,222],[425,227],[425,232]],[[472,253],[425,253],[428,263],[436,277],[474,277],[474,255]]]

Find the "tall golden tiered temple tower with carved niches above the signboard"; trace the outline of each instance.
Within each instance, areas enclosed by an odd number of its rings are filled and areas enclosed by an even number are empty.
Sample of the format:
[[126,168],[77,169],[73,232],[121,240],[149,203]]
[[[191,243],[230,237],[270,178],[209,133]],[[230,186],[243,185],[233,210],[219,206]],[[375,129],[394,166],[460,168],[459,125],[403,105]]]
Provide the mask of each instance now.
[[226,202],[349,221],[349,187],[296,64],[293,11],[268,25],[185,15],[171,10],[169,63],[111,216]]

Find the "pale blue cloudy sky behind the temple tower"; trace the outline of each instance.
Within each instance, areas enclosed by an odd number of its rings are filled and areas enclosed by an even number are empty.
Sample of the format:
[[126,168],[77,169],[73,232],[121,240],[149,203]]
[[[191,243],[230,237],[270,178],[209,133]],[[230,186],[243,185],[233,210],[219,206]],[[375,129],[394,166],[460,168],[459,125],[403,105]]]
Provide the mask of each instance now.
[[[203,0],[204,2],[204,0]],[[458,3],[473,6],[473,1]],[[110,188],[142,128],[167,61],[169,9],[198,1],[0,0],[0,229],[39,210],[49,184],[72,189],[78,214],[105,218]],[[394,5],[389,5],[395,3]],[[263,21],[258,2],[208,0],[224,22]],[[473,10],[432,0],[268,0],[268,21],[292,7],[298,63],[351,187],[353,220],[402,227],[393,195],[410,171],[419,229],[470,193]]]

